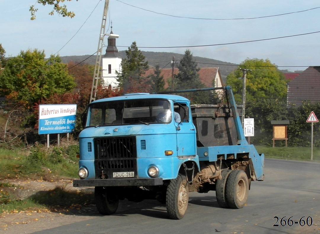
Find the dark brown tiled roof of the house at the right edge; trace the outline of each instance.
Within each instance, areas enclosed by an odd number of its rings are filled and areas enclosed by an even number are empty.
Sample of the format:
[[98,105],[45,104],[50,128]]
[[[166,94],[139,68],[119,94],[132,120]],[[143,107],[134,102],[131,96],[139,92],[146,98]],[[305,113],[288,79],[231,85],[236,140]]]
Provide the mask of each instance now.
[[303,101],[320,102],[320,66],[309,66],[288,83],[287,103],[300,106]]

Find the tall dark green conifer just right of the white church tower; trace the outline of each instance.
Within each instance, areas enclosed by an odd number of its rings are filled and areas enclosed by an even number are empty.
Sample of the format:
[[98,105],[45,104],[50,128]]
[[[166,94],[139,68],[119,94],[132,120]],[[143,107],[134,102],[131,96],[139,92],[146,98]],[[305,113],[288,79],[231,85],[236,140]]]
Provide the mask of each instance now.
[[117,73],[117,81],[123,92],[148,92],[151,89],[150,78],[142,75],[149,69],[146,57],[138,50],[136,42],[125,51],[127,58],[121,62],[122,71]]

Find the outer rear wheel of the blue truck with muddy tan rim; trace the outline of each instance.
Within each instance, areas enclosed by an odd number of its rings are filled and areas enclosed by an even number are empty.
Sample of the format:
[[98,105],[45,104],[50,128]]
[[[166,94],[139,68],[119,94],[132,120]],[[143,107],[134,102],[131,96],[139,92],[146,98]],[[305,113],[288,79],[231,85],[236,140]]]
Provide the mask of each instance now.
[[230,208],[244,207],[248,199],[249,182],[243,170],[234,170],[228,176],[226,184],[226,198]]

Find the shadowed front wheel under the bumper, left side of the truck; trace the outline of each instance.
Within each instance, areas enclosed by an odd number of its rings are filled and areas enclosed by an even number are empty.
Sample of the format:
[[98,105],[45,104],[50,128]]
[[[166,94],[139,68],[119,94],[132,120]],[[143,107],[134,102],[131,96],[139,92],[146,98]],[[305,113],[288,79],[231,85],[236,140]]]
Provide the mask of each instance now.
[[101,215],[111,215],[116,212],[119,199],[111,192],[110,187],[95,187],[94,199]]

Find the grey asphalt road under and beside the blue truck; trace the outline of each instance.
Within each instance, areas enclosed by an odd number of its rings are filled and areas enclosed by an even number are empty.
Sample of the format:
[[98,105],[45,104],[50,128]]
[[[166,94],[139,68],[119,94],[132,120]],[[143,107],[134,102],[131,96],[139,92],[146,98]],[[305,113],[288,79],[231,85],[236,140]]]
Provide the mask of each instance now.
[[[96,218],[36,233],[320,233],[320,163],[266,159],[264,174],[265,181],[252,182],[242,209],[218,207],[214,191],[192,192],[182,220],[168,219],[158,201],[120,201],[114,215],[97,212]],[[284,216],[298,223],[282,226]],[[301,226],[307,218],[311,224],[310,217],[312,225]]]

